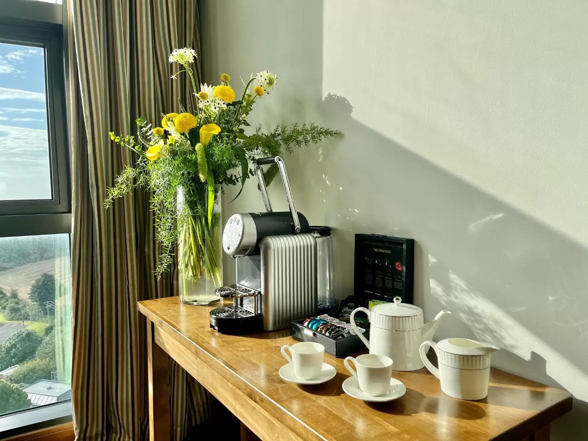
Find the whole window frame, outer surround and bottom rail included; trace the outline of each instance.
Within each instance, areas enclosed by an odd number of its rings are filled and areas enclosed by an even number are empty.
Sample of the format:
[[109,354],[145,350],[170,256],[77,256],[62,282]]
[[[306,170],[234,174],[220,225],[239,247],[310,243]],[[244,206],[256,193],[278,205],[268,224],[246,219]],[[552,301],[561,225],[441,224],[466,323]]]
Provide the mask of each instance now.
[[[18,44],[45,46],[49,161],[49,200],[0,201],[0,237],[72,233],[71,174],[68,140],[68,2],[0,0],[0,34]],[[16,38],[15,38],[16,37]],[[35,41],[32,41],[35,39]],[[58,198],[56,198],[58,196]],[[71,238],[71,236],[70,236]],[[71,240],[71,239],[70,239]],[[0,439],[72,421],[71,399],[0,415]]]

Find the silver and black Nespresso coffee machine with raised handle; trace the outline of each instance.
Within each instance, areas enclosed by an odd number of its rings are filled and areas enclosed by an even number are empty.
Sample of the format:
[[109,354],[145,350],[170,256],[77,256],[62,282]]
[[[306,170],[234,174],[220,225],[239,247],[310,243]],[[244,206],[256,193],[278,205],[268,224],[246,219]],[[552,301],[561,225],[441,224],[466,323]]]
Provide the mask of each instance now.
[[[276,163],[289,212],[273,212],[262,166]],[[223,231],[223,250],[236,259],[236,285],[215,293],[233,305],[211,310],[211,328],[244,334],[288,328],[290,320],[313,316],[318,305],[316,239],[308,220],[296,212],[286,167],[279,156],[256,161],[266,213],[230,217]]]

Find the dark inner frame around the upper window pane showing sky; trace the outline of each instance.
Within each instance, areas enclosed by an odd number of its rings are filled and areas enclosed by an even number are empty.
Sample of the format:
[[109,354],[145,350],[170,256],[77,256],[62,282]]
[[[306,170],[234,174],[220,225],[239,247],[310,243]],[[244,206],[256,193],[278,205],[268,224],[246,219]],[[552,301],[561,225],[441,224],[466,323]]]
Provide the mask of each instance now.
[[[36,46],[45,51],[47,138],[52,186],[52,199],[0,201],[0,229],[7,222],[18,225],[21,216],[71,213],[63,33],[59,24],[0,18],[0,42]],[[27,235],[32,233],[37,234],[31,230],[26,232]]]

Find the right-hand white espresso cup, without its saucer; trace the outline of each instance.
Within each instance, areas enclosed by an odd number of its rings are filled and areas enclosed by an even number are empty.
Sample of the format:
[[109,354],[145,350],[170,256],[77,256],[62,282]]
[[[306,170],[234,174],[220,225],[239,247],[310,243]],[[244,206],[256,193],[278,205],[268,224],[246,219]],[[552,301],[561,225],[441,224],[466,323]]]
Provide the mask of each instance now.
[[[357,372],[349,366],[355,364]],[[392,359],[385,355],[364,354],[359,357],[347,357],[343,362],[351,375],[358,379],[359,388],[370,396],[382,396],[390,389],[392,378]]]

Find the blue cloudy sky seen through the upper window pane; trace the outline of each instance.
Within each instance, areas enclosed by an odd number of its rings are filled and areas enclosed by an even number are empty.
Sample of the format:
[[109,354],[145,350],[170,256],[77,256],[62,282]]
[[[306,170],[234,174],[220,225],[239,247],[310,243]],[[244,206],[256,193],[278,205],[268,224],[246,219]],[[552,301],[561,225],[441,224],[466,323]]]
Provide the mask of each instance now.
[[51,199],[44,49],[0,43],[0,200]]

